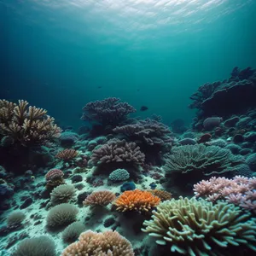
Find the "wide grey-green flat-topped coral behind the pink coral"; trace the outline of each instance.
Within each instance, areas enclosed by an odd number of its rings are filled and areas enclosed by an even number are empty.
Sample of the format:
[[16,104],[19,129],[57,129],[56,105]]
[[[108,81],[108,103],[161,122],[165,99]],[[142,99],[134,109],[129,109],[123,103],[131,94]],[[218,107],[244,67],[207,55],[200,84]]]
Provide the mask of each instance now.
[[164,169],[170,174],[201,172],[208,176],[214,173],[230,172],[232,167],[243,161],[241,156],[218,146],[184,145],[172,148],[172,154],[168,154]]

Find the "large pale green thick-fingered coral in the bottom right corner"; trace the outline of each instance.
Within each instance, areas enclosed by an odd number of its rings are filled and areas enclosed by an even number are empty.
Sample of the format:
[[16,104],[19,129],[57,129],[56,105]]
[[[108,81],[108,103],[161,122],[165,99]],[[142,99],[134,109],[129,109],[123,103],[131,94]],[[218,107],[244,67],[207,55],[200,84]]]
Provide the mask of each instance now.
[[236,252],[245,248],[256,252],[256,218],[226,202],[213,205],[180,197],[160,203],[152,218],[143,223],[143,232],[154,236],[159,245],[169,243],[172,252],[229,255],[231,247],[236,247]]

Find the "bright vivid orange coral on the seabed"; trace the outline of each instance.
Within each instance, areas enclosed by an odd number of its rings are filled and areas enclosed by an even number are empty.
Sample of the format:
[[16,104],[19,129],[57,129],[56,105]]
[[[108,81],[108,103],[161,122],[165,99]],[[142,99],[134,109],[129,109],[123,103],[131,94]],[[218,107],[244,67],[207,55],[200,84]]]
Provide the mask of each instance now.
[[160,203],[160,198],[154,196],[148,191],[139,189],[125,191],[119,198],[113,202],[117,211],[137,211],[148,212],[151,208],[156,207]]

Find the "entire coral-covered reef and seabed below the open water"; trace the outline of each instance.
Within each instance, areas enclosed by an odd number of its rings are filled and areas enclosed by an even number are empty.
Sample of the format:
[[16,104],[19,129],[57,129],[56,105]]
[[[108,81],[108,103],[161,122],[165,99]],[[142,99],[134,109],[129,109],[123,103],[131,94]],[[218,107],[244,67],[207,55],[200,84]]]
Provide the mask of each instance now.
[[110,97],[79,133],[0,100],[0,255],[256,255],[255,96],[235,67],[191,96],[190,127]]

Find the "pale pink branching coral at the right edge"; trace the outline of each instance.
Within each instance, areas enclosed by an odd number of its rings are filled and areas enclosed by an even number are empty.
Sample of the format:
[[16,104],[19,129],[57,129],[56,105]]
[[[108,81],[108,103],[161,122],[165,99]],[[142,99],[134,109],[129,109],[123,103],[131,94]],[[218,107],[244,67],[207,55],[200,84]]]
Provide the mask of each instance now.
[[256,177],[211,177],[194,185],[195,196],[208,201],[225,199],[256,213]]

